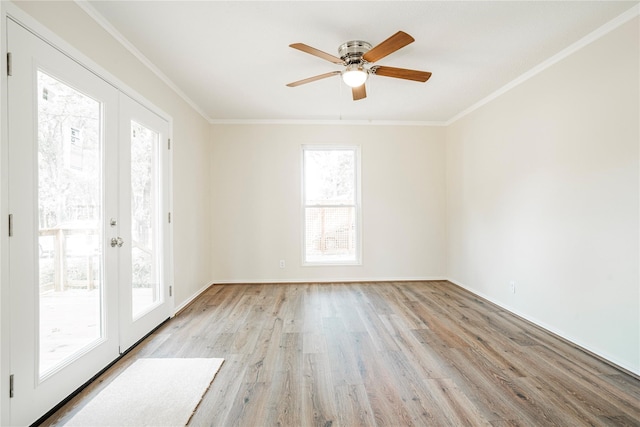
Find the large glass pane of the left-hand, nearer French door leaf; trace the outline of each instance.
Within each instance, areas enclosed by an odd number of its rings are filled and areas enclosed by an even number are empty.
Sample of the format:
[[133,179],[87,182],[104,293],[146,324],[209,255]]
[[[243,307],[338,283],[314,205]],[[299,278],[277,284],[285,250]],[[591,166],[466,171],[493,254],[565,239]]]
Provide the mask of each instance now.
[[101,110],[38,71],[40,378],[103,337]]

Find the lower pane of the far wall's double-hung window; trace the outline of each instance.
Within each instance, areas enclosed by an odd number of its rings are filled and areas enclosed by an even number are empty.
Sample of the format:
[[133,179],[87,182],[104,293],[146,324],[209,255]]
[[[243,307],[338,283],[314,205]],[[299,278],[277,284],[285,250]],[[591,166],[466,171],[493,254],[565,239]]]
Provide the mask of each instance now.
[[353,206],[305,208],[307,262],[356,261],[355,212]]

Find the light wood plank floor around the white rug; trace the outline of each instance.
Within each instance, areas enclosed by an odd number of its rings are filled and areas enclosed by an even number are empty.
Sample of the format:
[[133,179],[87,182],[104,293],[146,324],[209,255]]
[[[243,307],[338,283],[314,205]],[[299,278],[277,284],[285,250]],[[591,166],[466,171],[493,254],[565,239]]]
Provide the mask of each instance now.
[[449,282],[212,286],[141,357],[223,357],[192,426],[640,426],[640,380]]

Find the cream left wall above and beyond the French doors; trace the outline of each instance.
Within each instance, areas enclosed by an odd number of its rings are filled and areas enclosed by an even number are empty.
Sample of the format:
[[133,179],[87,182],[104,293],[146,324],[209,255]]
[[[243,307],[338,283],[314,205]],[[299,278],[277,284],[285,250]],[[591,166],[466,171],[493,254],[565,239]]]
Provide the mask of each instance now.
[[175,305],[210,284],[210,127],[75,2],[15,3],[173,118]]

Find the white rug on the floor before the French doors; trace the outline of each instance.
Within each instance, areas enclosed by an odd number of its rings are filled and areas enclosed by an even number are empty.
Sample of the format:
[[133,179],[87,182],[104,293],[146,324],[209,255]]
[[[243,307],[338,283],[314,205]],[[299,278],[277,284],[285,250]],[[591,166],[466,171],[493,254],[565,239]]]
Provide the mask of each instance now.
[[67,426],[184,426],[224,359],[138,359]]

